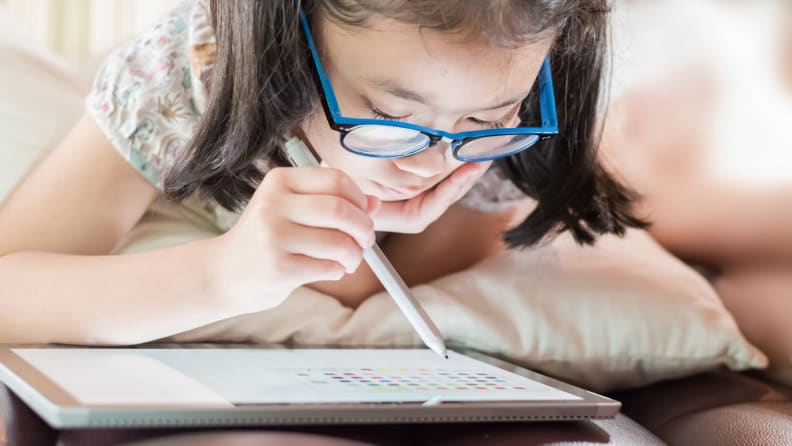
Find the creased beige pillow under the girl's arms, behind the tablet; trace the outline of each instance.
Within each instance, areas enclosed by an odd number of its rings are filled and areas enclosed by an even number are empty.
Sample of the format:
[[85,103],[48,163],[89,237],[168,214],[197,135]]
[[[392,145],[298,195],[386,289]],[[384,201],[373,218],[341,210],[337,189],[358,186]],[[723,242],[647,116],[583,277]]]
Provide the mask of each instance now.
[[[161,205],[119,252],[213,235],[185,226],[174,218],[177,213]],[[174,230],[186,232],[174,238]],[[722,366],[743,370],[767,364],[710,285],[641,231],[624,239],[605,237],[589,248],[562,236],[487,259],[414,292],[450,345],[491,352],[598,391]],[[352,310],[308,288],[275,309],[168,340],[420,345],[386,293]]]

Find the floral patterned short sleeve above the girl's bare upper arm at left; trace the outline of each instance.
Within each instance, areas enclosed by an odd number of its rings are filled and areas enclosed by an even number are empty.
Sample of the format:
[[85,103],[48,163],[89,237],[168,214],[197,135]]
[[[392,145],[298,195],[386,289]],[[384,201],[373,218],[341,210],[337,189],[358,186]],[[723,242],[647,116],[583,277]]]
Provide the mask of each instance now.
[[196,44],[207,39],[205,1],[182,3],[129,45],[111,53],[86,108],[116,150],[151,184],[190,140],[205,97],[193,74]]

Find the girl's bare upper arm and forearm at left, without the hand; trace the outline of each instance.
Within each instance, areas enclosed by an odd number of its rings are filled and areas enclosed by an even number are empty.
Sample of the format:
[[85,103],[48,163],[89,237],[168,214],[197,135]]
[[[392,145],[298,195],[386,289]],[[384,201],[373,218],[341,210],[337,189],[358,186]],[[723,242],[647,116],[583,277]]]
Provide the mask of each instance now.
[[0,342],[128,344],[217,320],[210,284],[195,280],[210,242],[94,256],[156,195],[80,120],[0,208]]

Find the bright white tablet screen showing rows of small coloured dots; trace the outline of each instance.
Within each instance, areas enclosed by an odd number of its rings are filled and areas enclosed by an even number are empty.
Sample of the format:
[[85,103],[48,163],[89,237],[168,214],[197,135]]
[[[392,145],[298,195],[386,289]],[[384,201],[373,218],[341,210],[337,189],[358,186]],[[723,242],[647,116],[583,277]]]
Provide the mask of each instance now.
[[449,351],[12,350],[85,405],[433,404],[581,398]]

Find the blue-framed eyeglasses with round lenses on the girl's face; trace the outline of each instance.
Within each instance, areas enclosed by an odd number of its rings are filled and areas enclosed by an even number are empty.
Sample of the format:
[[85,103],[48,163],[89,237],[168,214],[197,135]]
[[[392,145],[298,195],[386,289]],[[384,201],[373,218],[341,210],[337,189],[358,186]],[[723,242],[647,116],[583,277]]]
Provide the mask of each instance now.
[[450,145],[454,157],[460,161],[489,161],[514,155],[530,148],[537,141],[550,139],[558,134],[553,80],[548,59],[542,63],[537,79],[541,127],[449,133],[408,122],[343,116],[330,79],[322,68],[308,20],[302,10],[300,21],[313,56],[327,122],[330,128],[339,132],[341,146],[352,153],[375,158],[398,158],[416,154],[444,141]]

